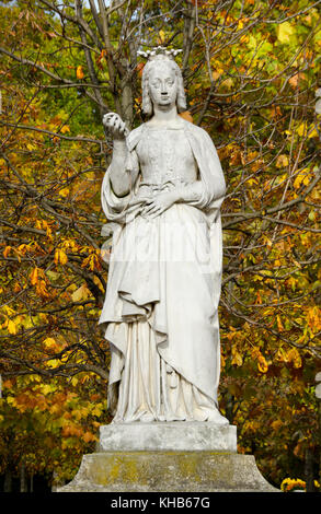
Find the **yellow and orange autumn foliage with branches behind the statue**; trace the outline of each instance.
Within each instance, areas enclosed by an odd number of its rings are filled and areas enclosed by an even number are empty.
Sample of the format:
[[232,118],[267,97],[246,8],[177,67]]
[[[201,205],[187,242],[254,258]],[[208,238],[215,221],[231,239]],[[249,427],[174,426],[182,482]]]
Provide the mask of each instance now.
[[183,49],[183,116],[210,133],[228,185],[220,408],[272,482],[318,478],[317,5],[20,0],[0,16],[0,474],[70,479],[110,420],[101,120],[144,121],[137,50],[162,44]]

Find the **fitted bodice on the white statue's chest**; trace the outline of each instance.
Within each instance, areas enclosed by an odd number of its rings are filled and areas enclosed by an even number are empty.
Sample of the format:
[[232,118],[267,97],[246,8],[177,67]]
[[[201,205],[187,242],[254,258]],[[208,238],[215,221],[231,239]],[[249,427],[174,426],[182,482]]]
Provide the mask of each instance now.
[[197,179],[197,164],[184,129],[147,127],[136,152],[141,185],[191,184]]

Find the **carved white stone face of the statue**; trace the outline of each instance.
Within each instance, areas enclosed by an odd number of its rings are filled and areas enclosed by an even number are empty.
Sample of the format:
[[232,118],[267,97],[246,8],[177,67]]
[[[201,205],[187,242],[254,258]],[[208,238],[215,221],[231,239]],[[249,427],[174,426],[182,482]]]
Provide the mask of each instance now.
[[177,97],[177,80],[175,71],[167,62],[158,62],[149,72],[149,94],[153,105],[168,109],[175,105]]

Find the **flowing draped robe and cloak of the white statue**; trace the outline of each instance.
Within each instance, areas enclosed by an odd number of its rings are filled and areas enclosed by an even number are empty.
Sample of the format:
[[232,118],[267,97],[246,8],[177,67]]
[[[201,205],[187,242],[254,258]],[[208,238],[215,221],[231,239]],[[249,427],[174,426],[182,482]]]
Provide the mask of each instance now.
[[[128,173],[139,166],[137,149],[149,130],[144,124],[127,138]],[[220,205],[226,187],[207,132],[185,120],[183,131],[202,183],[202,191],[188,202],[174,203],[149,220],[137,202],[141,173],[127,197],[114,195],[110,168],[102,184],[113,249],[99,323],[106,324],[112,352],[108,405],[114,422],[215,420],[210,414],[218,412]]]

